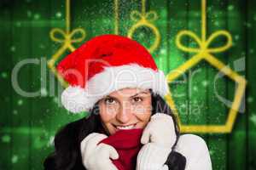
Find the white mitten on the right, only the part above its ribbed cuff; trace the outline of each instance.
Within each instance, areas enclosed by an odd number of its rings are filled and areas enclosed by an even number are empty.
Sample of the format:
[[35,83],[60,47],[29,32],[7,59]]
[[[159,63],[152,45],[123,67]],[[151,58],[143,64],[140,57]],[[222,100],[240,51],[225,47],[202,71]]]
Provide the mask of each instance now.
[[148,125],[143,130],[142,144],[155,143],[172,147],[176,142],[175,125],[172,116],[156,113],[151,116]]

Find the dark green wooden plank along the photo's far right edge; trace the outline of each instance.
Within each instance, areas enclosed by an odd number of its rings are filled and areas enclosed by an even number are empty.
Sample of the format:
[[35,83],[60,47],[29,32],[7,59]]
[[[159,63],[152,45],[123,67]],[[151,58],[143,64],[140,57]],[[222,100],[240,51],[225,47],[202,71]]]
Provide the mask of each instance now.
[[246,77],[247,77],[247,95],[246,95],[246,116],[247,116],[247,169],[256,169],[256,72],[255,53],[256,53],[256,23],[255,10],[256,2],[247,0],[247,57],[246,57]]

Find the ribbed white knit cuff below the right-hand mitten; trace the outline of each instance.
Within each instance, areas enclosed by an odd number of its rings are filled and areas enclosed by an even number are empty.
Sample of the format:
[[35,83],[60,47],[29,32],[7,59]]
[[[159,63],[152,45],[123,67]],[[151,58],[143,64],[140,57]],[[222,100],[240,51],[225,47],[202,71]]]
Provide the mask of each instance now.
[[154,143],[144,144],[137,155],[137,170],[168,170],[166,159],[172,147],[165,147]]

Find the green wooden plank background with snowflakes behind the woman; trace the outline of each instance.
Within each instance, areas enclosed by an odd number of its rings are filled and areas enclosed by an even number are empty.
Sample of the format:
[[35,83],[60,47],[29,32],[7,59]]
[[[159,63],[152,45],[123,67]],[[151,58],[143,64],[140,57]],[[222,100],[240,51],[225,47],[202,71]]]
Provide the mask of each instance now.
[[[175,38],[183,29],[201,35],[201,1],[148,0],[146,7],[159,14],[154,26],[160,31],[161,41],[153,55],[167,74],[191,57],[177,48]],[[140,11],[141,1],[119,0],[120,35],[127,35],[127,29],[133,25],[129,15],[134,9]],[[199,134],[207,141],[214,170],[256,169],[255,11],[254,0],[207,1],[208,35],[224,29],[233,37],[232,48],[215,57],[248,82],[244,105],[232,133]],[[113,14],[113,0],[71,1],[71,27],[84,28],[84,42],[96,35],[114,33]],[[57,129],[84,116],[73,116],[60,105],[60,83],[44,65],[45,59],[61,47],[49,38],[49,31],[54,27],[65,29],[65,1],[2,0],[0,25],[0,169],[43,169],[44,157],[53,150],[51,142]],[[154,35],[150,29],[140,28],[135,39],[148,47]],[[189,39],[185,43],[195,45]],[[224,39],[219,38],[213,46],[223,43]],[[40,61],[38,65],[24,65],[18,75],[20,88],[28,92],[39,90],[38,97],[24,97],[12,85],[12,71],[24,59]],[[217,74],[211,65],[201,62],[186,72],[187,82],[170,84],[184,124],[224,123],[229,107],[214,94],[213,81]],[[44,78],[46,86],[41,85]],[[234,82],[222,77],[216,86],[218,94],[233,99]]]

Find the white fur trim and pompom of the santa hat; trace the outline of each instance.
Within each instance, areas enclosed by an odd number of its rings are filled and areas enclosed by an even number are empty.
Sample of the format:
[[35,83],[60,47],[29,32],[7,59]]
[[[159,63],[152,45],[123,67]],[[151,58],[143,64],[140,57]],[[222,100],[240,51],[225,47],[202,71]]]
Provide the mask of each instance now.
[[162,97],[169,92],[163,71],[131,64],[104,67],[104,71],[90,78],[85,88],[66,88],[61,94],[61,102],[73,113],[89,111],[99,99],[122,88],[151,88],[155,94]]

